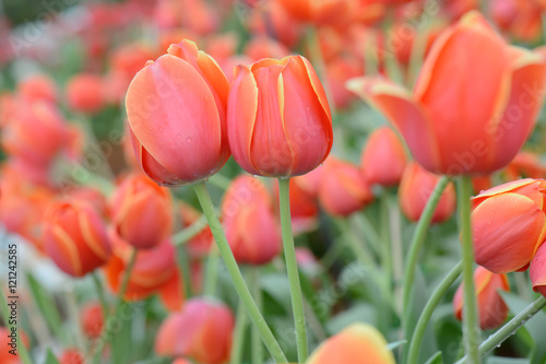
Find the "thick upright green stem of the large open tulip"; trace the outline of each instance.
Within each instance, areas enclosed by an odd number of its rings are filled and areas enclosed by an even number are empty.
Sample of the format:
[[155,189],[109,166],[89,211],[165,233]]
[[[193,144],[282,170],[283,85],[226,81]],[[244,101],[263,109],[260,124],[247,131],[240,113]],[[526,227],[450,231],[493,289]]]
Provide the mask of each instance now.
[[470,364],[479,364],[482,359],[478,345],[482,331],[478,326],[477,302],[474,289],[474,246],[471,225],[471,196],[472,179],[461,176],[458,181],[459,219],[461,224],[461,239],[463,250],[463,342]]

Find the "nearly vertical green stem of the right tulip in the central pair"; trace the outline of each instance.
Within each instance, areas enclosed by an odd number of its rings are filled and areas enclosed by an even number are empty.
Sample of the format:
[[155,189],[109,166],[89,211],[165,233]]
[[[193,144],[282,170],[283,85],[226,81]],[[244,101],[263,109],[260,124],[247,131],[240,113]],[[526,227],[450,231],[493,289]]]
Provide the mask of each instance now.
[[284,257],[286,259],[286,271],[290,284],[292,309],[296,325],[296,344],[298,349],[298,362],[307,360],[307,331],[304,312],[304,298],[299,282],[294,236],[292,233],[289,178],[278,178],[278,200],[281,210],[281,226],[283,230]]

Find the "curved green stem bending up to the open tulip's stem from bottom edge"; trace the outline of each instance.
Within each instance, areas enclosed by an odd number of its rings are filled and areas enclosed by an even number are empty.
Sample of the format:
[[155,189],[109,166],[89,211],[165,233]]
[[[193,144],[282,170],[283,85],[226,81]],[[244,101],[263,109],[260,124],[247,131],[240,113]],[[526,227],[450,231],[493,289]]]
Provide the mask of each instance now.
[[463,263],[459,262],[446,278],[441,281],[441,283],[436,287],[435,292],[428,300],[423,313],[420,314],[419,320],[417,321],[417,326],[415,327],[415,332],[413,333],[412,341],[410,343],[410,354],[407,356],[406,364],[417,364],[419,360],[419,350],[423,343],[423,337],[425,336],[425,331],[427,329],[428,322],[430,321],[430,317],[432,317],[432,313],[436,307],[440,303],[440,300],[446,295],[449,287],[453,282],[456,281],[459,275],[463,270]]

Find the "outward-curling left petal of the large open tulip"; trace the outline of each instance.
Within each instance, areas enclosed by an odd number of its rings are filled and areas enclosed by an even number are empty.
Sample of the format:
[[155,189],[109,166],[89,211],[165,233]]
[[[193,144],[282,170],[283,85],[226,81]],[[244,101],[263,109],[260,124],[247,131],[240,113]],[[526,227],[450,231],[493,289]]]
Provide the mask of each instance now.
[[436,172],[439,154],[430,119],[407,91],[377,77],[353,79],[347,89],[382,111],[404,137],[419,164]]

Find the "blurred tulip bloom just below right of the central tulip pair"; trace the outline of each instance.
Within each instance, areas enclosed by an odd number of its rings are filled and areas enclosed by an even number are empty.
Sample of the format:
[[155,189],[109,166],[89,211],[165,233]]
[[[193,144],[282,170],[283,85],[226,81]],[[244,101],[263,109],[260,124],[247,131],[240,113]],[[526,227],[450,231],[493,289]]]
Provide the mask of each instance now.
[[328,213],[346,216],[373,200],[370,187],[357,166],[330,157],[322,168],[319,201]]

